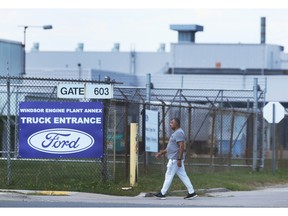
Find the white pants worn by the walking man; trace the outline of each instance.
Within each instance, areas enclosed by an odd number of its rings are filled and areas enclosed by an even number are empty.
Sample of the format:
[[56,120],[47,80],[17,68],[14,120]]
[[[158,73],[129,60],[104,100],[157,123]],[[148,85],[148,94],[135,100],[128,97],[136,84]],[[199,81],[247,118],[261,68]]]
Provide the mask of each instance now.
[[177,166],[177,160],[169,159],[168,164],[167,164],[166,174],[165,174],[165,181],[164,181],[162,189],[161,189],[161,193],[163,195],[165,195],[167,193],[175,174],[177,174],[177,176],[184,183],[184,185],[186,186],[186,188],[188,190],[188,193],[191,194],[194,192],[193,185],[192,185],[192,183],[191,183],[191,181],[190,181],[190,179],[187,176],[187,173],[185,171],[184,160],[182,160],[181,163],[182,163],[182,166],[178,167]]

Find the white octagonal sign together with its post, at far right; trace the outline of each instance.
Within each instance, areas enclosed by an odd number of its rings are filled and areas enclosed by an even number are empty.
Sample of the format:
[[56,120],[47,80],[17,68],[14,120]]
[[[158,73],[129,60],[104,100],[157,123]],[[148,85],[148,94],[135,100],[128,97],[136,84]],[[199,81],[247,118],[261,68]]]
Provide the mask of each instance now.
[[275,123],[279,123],[285,116],[285,109],[279,102],[269,102],[263,108],[263,117],[272,123],[272,173],[274,175],[276,169],[275,146],[276,146],[276,130]]

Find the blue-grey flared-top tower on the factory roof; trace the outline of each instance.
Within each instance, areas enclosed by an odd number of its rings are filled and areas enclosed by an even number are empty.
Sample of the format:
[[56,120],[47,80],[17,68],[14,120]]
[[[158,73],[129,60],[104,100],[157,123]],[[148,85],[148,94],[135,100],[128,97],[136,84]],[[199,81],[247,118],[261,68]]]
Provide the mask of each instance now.
[[195,34],[198,31],[203,31],[203,26],[200,25],[170,25],[170,29],[178,31],[178,42],[195,43]]

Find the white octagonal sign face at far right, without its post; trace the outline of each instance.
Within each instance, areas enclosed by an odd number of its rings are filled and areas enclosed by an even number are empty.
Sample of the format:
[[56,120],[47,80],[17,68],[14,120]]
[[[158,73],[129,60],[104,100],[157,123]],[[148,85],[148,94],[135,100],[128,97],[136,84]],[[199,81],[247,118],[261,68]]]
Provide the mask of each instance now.
[[273,105],[274,110],[274,123],[279,123],[285,116],[285,109],[279,102],[269,102],[263,107],[263,117],[269,122],[273,123]]

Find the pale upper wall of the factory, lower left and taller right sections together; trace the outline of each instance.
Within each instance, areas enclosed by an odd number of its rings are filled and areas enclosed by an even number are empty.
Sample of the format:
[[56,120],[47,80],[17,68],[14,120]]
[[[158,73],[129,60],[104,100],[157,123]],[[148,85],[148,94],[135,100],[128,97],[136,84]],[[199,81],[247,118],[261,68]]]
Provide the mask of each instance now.
[[132,75],[165,73],[168,68],[281,69],[283,50],[270,44],[171,44],[171,52],[27,53],[27,69],[83,68]]

